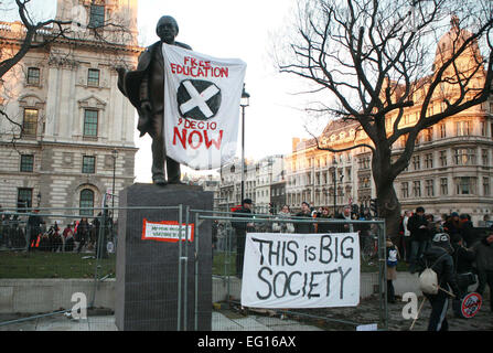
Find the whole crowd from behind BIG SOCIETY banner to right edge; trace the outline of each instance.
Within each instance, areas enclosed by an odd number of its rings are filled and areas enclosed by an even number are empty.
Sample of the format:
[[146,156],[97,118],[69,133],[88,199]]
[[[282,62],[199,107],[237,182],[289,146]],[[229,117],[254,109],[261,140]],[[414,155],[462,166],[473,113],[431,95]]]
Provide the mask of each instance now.
[[[369,210],[365,207],[358,210],[361,213],[354,210],[352,206],[345,206],[341,214],[334,215],[330,213],[330,207],[313,210],[303,202],[301,211],[293,213],[288,205],[283,205],[280,212],[274,215],[271,228],[267,231],[297,234],[357,232],[360,246],[364,248],[373,233],[368,223],[319,222],[373,218]],[[245,199],[234,216],[253,217],[251,200]],[[318,220],[306,222],[313,218]],[[248,221],[232,222],[232,226],[236,231],[236,271],[242,277],[246,233],[257,227]],[[459,302],[475,284],[478,286],[474,291],[481,296],[485,287],[490,287],[490,309],[493,311],[493,226],[489,229],[474,227],[470,215],[456,212],[436,220],[433,215],[427,214],[424,207],[417,207],[415,212],[406,211],[403,214],[398,234],[386,239],[386,250],[387,299],[390,303],[396,302],[393,281],[397,278],[399,261],[407,264],[410,274],[419,275],[429,266],[436,270],[442,290],[437,295],[425,293],[432,307],[429,330],[447,330],[443,312],[447,311],[448,298],[453,297],[456,303]],[[457,309],[454,312],[461,317]]]

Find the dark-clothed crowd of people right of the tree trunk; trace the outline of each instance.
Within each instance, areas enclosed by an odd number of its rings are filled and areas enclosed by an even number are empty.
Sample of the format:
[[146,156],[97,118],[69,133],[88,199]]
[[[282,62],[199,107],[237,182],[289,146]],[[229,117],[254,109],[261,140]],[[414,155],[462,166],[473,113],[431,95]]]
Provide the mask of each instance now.
[[411,274],[431,268],[438,278],[438,292],[425,293],[431,303],[428,330],[447,331],[444,314],[449,299],[458,318],[461,300],[476,285],[474,291],[483,296],[490,287],[490,310],[493,312],[493,226],[474,227],[468,214],[442,215],[436,221],[424,207],[405,212],[397,237],[400,253]]

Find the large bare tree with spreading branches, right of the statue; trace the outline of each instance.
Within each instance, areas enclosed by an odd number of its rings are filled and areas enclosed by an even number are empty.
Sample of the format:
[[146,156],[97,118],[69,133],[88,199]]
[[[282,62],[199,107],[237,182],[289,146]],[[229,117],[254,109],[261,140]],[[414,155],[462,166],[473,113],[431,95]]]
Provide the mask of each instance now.
[[[490,96],[492,8],[489,0],[299,2],[296,36],[278,60],[280,72],[306,78],[312,92],[332,99],[309,109],[356,120],[367,135],[369,145],[351,149],[372,151],[388,234],[397,234],[400,215],[394,181],[409,164],[419,132]],[[431,111],[437,101],[442,108]],[[405,124],[412,107],[419,107],[417,119]],[[396,142],[404,150],[393,159]],[[318,139],[317,146],[339,152]]]

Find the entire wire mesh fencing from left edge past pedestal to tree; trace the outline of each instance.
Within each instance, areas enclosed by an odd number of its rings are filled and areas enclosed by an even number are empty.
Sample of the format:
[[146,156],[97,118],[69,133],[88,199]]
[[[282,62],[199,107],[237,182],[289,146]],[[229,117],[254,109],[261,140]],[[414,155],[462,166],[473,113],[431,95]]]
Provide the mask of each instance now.
[[[114,222],[111,212],[105,206],[93,210],[97,216],[87,218],[87,225],[84,225],[86,217],[81,217],[78,208],[26,211],[2,213],[8,217],[3,217],[0,228],[0,299],[3,301],[0,330],[13,330],[36,320],[47,320],[45,325],[50,329],[53,318],[71,315],[74,302],[77,303],[77,298],[73,298],[76,293],[85,296],[82,304],[93,318],[90,323],[86,321],[87,324],[79,324],[78,329],[96,330],[97,325],[101,330],[115,329],[118,220]],[[122,208],[115,210],[115,214],[118,211],[124,214]],[[212,277],[212,330],[355,330],[367,323],[378,323],[382,330],[387,328],[383,221],[279,218],[267,214],[245,218],[238,217],[237,213],[190,210],[181,205],[175,210],[179,211],[180,224],[183,222],[186,227],[195,224],[199,231],[199,224],[211,226],[212,268],[203,268],[197,260],[196,245],[205,234],[196,232],[193,243],[176,244],[180,246],[179,265],[170,269],[173,271],[169,274],[170,281],[161,286],[180,287],[179,298],[163,306],[163,311],[178,313],[178,330],[193,329],[193,321],[204,314],[204,307],[199,306],[196,297],[190,302],[185,299],[190,289],[197,288],[197,276],[204,271]],[[132,217],[136,212],[127,214]],[[304,228],[326,234],[360,232],[360,303],[318,309],[242,307],[244,237],[238,237],[234,227],[238,223],[251,223],[249,232],[255,233],[307,233]],[[146,276],[152,277],[152,274]],[[96,320],[98,318],[100,321]]]

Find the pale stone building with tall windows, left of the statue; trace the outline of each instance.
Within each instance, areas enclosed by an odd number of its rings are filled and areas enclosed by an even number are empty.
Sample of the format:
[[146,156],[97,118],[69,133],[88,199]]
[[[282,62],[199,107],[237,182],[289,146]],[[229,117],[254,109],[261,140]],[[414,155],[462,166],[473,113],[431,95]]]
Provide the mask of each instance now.
[[[3,77],[0,104],[22,126],[0,120],[3,208],[99,207],[114,186],[118,194],[133,183],[135,109],[115,68],[135,67],[142,51],[137,0],[58,0],[56,19],[79,23],[56,39],[56,28],[40,30],[35,43],[50,43]],[[20,22],[0,24],[1,60],[19,50],[23,33]]]

